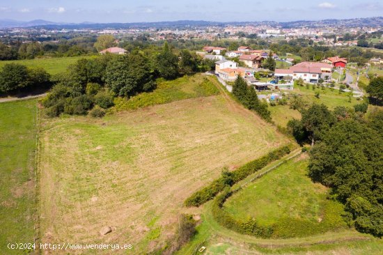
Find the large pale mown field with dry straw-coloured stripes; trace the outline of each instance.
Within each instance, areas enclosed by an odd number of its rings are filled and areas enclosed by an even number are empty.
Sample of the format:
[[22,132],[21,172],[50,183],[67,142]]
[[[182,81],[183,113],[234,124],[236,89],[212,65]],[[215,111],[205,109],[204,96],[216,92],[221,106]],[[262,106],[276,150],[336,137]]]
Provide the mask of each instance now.
[[[128,242],[135,254],[162,246],[174,235],[189,195],[224,167],[234,169],[288,142],[227,100],[214,95],[101,120],[43,120],[42,241]],[[104,226],[113,231],[101,236]]]

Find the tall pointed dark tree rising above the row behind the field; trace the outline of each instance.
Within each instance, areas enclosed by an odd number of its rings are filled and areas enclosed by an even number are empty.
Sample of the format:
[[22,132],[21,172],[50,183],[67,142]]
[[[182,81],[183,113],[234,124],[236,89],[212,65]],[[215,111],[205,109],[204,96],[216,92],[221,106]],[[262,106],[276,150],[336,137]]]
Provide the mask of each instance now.
[[162,52],[157,56],[157,68],[161,77],[175,79],[180,75],[178,57],[169,49],[168,42],[164,43]]

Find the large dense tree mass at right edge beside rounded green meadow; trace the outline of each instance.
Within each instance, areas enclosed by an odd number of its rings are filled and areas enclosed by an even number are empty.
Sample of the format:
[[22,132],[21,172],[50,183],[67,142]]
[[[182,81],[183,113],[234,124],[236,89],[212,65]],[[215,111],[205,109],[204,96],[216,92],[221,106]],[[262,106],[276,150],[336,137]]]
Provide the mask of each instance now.
[[340,121],[315,144],[308,175],[331,187],[362,232],[383,235],[383,135],[371,123]]

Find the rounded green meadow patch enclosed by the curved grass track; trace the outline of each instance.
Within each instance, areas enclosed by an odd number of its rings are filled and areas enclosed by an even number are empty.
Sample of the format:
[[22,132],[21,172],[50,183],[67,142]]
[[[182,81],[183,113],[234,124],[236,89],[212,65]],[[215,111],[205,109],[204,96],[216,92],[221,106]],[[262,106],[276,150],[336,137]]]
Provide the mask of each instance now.
[[280,237],[306,236],[315,228],[318,232],[345,228],[343,206],[328,201],[327,189],[311,182],[307,164],[303,159],[282,164],[230,197],[224,210],[240,219],[254,217],[263,226],[275,225]]

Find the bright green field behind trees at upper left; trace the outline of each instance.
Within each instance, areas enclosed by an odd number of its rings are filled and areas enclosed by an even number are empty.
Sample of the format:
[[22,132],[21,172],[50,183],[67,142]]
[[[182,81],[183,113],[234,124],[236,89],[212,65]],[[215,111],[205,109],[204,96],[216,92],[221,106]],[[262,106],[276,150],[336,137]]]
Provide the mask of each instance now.
[[56,75],[64,72],[69,65],[76,63],[79,59],[91,58],[92,56],[70,56],[61,58],[23,59],[13,61],[0,61],[0,68],[6,63],[19,63],[29,68],[44,68],[49,74]]

